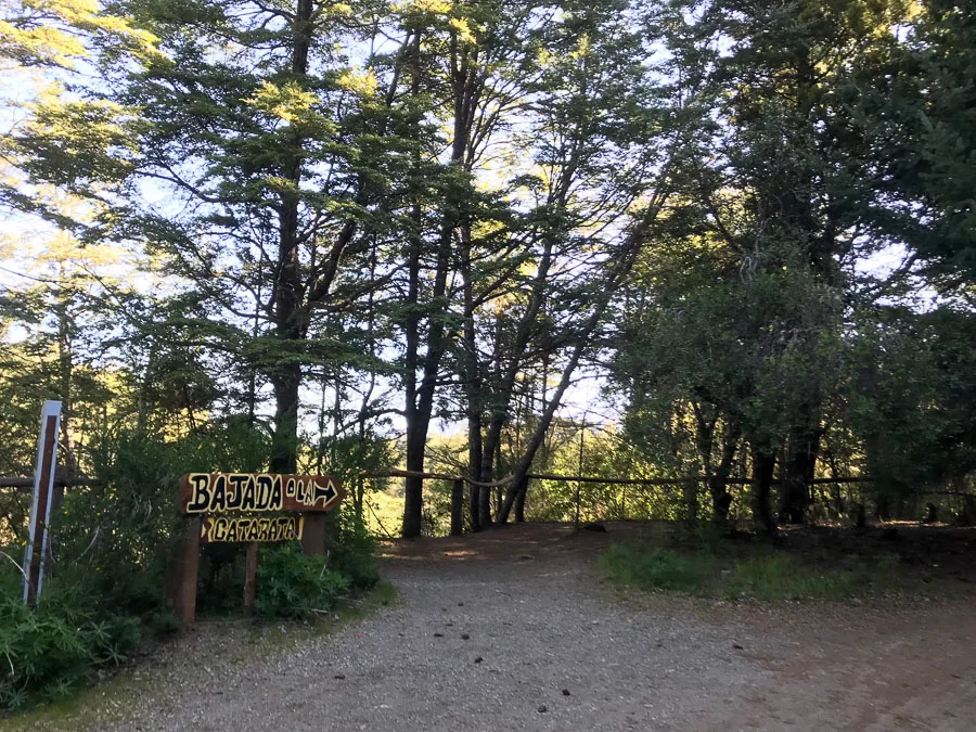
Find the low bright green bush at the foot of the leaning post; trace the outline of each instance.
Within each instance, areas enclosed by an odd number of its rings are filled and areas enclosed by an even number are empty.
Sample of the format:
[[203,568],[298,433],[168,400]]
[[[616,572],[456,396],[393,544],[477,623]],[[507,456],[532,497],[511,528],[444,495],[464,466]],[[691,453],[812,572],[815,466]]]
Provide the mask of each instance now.
[[118,664],[141,639],[139,621],[100,616],[76,593],[46,592],[24,604],[16,581],[0,588],[0,708],[64,696],[99,666]]

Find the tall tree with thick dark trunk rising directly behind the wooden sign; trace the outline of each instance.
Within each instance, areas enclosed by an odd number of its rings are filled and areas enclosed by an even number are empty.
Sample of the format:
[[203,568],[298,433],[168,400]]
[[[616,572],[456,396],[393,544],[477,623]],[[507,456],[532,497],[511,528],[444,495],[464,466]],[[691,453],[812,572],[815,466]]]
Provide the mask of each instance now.
[[[398,171],[383,155],[397,145],[389,89],[401,56],[369,46],[381,30],[355,14],[370,17],[367,8],[127,8],[160,54],[111,75],[113,98],[141,115],[139,183],[106,234],[146,241],[208,304],[226,358],[270,383],[271,468],[294,472],[305,371],[330,358],[329,341],[309,334],[375,286],[361,277],[362,222],[383,235],[396,210],[377,201],[396,195]],[[343,42],[373,50],[352,63]]]

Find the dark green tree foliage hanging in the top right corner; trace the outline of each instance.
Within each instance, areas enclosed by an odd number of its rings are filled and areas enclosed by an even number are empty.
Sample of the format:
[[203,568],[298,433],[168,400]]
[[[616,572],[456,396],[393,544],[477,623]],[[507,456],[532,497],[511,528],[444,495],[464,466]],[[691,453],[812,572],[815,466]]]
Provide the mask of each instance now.
[[976,272],[976,7],[925,0],[902,12],[900,42],[855,61],[846,101],[886,194],[879,224],[925,264],[934,286],[953,293]]

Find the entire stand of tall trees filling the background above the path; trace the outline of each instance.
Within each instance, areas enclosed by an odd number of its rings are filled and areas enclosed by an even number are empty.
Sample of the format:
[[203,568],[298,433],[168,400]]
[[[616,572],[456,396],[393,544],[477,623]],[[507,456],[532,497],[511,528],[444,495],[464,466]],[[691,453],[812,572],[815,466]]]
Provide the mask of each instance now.
[[219,434],[363,512],[360,472],[404,466],[406,536],[435,464],[473,530],[565,517],[529,475],[588,435],[604,477],[701,478],[669,516],[972,496],[974,18],[8,3],[0,473],[57,398],[72,473]]

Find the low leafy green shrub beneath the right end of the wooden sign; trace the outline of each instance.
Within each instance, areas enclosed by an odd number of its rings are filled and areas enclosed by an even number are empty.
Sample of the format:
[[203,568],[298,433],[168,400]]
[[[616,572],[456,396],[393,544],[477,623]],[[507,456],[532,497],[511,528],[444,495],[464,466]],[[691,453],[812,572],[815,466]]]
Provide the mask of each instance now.
[[325,563],[324,556],[305,556],[292,544],[262,551],[255,599],[258,615],[305,617],[332,609],[351,582]]

